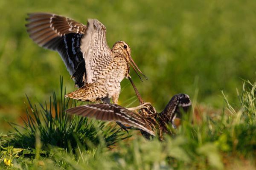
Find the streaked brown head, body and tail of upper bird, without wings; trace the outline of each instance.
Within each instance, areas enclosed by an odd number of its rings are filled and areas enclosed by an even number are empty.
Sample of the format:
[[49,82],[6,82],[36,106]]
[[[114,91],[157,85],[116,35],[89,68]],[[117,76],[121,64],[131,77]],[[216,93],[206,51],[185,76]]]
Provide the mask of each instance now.
[[[132,61],[130,57],[131,48],[125,42],[118,41],[113,45],[111,51],[114,56],[113,61],[102,71],[97,80],[67,94],[66,97],[90,102],[112,97],[113,103],[117,104],[121,90],[120,82],[125,77],[130,77],[128,62]],[[134,62],[132,61],[132,63]]]

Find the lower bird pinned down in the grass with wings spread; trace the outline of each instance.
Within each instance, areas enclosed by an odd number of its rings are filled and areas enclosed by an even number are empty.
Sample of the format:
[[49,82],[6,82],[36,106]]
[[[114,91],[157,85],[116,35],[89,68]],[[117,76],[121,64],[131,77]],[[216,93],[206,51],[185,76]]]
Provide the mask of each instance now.
[[[66,112],[103,121],[119,122],[123,129],[140,130],[145,139],[158,136],[160,140],[164,140],[163,133],[169,133],[169,123],[176,128],[175,118],[181,119],[182,113],[187,112],[190,106],[191,100],[187,94],[176,94],[160,113],[157,113],[150,103],[134,108],[124,108],[110,103],[89,104],[67,109]],[[140,110],[138,113],[134,112],[138,109]]]

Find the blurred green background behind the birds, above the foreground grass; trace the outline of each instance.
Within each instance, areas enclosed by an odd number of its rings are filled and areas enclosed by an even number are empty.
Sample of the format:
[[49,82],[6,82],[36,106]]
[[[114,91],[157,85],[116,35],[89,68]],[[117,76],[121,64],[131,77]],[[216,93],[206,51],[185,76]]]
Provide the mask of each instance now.
[[[143,99],[160,111],[174,94],[194,98],[197,90],[203,105],[222,106],[221,90],[237,101],[242,79],[256,80],[255,9],[255,0],[1,0],[0,122],[17,122],[25,94],[35,102],[48,100],[59,91],[60,75],[67,92],[74,90],[58,53],[29,38],[27,13],[52,12],[81,23],[98,19],[110,47],[117,40],[130,45],[149,80],[141,82],[133,70],[131,76]],[[119,104],[126,106],[135,93],[127,79],[122,89]]]

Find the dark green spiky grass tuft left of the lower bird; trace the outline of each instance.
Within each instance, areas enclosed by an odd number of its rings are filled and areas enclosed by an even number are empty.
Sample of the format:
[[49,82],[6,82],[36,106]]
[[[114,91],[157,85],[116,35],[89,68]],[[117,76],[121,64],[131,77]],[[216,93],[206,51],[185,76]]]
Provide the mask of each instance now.
[[23,130],[11,124],[15,133],[2,137],[1,146],[12,145],[15,148],[35,149],[38,137],[42,144],[41,149],[45,151],[49,150],[49,146],[61,147],[69,151],[80,146],[87,150],[100,143],[105,147],[110,147],[119,140],[129,137],[115,123],[98,122],[66,113],[65,110],[76,105],[76,102],[64,98],[66,91],[63,91],[62,78],[60,89],[60,102],[57,102],[54,92],[49,102],[45,102],[44,105],[39,104],[40,108],[32,105],[27,98],[29,106],[26,107],[26,118],[22,118]]

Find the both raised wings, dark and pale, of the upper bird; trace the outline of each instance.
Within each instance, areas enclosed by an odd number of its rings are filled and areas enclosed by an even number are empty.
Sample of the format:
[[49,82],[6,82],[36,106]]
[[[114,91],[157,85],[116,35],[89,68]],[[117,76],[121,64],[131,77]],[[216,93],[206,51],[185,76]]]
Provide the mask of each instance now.
[[28,14],[29,36],[41,47],[58,51],[76,85],[96,81],[113,60],[106,42],[106,28],[98,20],[88,26],[57,14]]

